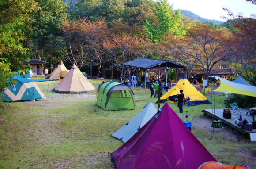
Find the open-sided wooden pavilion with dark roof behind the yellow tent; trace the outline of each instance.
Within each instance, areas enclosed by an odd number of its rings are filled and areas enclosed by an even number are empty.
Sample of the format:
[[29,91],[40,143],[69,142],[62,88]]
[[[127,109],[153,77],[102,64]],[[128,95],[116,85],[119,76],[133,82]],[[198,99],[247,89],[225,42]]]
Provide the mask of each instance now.
[[[150,72],[152,69],[159,69],[164,72],[166,79],[165,83],[167,84],[168,73],[174,69],[176,72],[175,80],[177,81],[177,69],[184,69],[185,76],[188,77],[188,66],[184,66],[173,61],[169,60],[160,60],[160,59],[150,59],[150,58],[138,58],[133,61],[128,61],[123,63],[123,75],[125,77],[125,72],[129,69],[130,75],[132,72],[136,71],[137,79],[139,72],[144,72],[144,79],[146,79],[146,71]],[[146,89],[146,80],[144,80],[144,86]]]

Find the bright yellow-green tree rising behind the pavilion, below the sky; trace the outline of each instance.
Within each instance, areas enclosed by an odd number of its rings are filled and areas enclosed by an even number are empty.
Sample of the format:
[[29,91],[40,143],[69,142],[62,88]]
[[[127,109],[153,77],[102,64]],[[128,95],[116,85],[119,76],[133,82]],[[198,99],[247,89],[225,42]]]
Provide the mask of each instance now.
[[153,9],[155,20],[147,17],[144,23],[144,31],[151,39],[152,43],[158,43],[164,39],[164,35],[173,34],[174,36],[185,35],[185,28],[182,22],[180,10],[173,13],[173,6],[169,7],[167,0],[160,0],[154,4]]

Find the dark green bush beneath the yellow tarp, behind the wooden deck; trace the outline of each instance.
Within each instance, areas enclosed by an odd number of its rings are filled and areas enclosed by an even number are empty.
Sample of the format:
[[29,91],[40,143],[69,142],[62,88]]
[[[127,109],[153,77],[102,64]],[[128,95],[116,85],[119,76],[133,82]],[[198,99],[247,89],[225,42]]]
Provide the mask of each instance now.
[[253,105],[256,104],[254,97],[240,95],[240,94],[228,94],[228,97],[224,100],[225,108],[230,108],[230,103],[237,103],[239,108],[250,108],[251,100],[253,98]]

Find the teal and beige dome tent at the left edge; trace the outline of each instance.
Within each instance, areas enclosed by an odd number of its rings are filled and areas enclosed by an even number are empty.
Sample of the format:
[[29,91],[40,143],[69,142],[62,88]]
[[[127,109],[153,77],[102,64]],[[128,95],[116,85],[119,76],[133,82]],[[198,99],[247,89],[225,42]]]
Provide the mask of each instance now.
[[38,85],[31,79],[14,79],[16,85],[8,86],[3,93],[2,101],[33,101],[46,99]]

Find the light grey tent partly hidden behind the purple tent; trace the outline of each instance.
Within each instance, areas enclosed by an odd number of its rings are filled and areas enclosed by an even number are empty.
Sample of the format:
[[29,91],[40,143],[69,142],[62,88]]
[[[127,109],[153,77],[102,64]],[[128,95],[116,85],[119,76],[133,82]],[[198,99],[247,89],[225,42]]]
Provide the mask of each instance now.
[[157,109],[150,101],[144,108],[128,123],[111,134],[113,137],[120,139],[124,143],[128,141],[139,129],[141,129],[155,114]]

